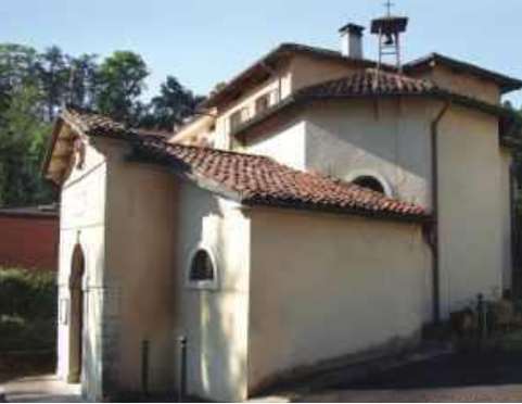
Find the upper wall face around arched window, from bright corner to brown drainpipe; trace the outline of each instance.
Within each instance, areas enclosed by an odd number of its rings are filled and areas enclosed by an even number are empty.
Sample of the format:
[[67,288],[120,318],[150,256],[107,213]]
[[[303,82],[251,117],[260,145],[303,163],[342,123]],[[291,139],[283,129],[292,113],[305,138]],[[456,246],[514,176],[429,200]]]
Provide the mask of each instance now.
[[351,180],[383,177],[393,195],[431,205],[429,103],[327,102],[306,113],[306,167]]

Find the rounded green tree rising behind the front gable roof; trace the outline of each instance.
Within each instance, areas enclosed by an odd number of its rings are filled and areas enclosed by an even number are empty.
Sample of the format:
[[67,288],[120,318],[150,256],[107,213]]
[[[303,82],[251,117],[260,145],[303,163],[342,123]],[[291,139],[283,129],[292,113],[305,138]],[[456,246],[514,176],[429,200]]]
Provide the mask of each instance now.
[[100,67],[98,109],[112,118],[136,125],[142,104],[149,70],[143,59],[132,52],[115,52]]

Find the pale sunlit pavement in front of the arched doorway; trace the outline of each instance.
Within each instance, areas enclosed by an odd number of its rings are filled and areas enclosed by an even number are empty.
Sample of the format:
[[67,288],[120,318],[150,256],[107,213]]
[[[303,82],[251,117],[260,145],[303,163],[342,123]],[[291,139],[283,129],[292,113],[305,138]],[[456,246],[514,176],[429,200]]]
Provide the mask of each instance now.
[[9,403],[81,403],[79,388],[67,386],[53,376],[37,376],[0,384]]

